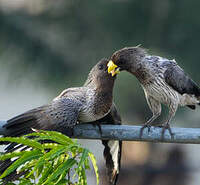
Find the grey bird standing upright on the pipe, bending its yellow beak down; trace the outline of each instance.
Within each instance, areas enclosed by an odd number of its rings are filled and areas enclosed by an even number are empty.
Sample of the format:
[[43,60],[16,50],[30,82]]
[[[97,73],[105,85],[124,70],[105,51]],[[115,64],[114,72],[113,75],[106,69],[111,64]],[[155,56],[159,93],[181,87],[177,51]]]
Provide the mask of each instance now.
[[144,89],[153,116],[142,127],[141,135],[143,129],[150,129],[152,122],[161,114],[161,103],[169,108],[168,118],[162,124],[162,137],[165,129],[173,137],[170,121],[179,105],[195,109],[195,105],[200,103],[200,88],[175,60],[149,55],[145,49],[136,46],[116,51],[108,66],[108,72],[113,76],[119,70],[132,73]]

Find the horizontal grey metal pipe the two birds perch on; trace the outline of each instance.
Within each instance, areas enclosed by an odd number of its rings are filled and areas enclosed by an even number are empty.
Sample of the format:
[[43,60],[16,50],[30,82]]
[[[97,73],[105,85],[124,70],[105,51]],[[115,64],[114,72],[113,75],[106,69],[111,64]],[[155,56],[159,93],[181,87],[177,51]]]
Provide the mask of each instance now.
[[141,126],[130,125],[101,125],[80,124],[74,128],[74,138],[79,139],[113,139],[124,141],[148,141],[164,143],[200,144],[200,128],[172,127],[174,138],[166,130],[164,139],[161,137],[162,128],[151,127],[150,132],[144,129],[140,138]]

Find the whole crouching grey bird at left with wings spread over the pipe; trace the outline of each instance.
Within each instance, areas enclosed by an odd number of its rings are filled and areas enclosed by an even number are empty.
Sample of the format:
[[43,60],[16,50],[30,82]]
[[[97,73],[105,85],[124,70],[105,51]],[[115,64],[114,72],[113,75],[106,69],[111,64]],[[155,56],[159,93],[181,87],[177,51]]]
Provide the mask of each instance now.
[[[82,87],[68,88],[56,97],[50,104],[44,105],[4,122],[0,128],[3,136],[21,136],[33,132],[32,129],[54,130],[68,134],[76,124],[93,122],[101,124],[111,121],[121,124],[121,118],[113,104],[113,86],[116,76],[107,73],[108,59],[99,61],[90,71]],[[97,121],[99,120],[99,121]],[[102,141],[104,156],[109,172],[110,184],[115,184],[120,168],[121,142]],[[4,144],[4,143],[1,143]],[[16,144],[10,144],[6,152],[18,149]],[[1,161],[2,173],[11,161]],[[7,179],[16,178],[11,174]]]

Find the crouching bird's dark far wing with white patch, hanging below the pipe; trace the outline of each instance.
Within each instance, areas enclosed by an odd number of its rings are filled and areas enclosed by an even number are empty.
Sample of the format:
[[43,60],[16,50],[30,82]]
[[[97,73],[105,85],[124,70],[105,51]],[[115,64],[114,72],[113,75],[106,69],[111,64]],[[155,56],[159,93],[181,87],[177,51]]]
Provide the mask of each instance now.
[[[117,112],[115,105],[111,107],[110,113],[103,119],[99,120],[105,124],[121,125],[121,117]],[[121,150],[122,141],[102,140],[104,145],[104,158],[106,161],[107,174],[110,185],[116,185],[120,167],[121,167]]]

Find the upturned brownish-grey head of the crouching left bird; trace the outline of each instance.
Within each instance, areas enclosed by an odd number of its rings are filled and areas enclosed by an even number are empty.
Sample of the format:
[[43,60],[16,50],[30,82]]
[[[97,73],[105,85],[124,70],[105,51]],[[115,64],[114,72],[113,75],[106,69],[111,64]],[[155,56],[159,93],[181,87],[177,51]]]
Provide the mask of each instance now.
[[113,87],[116,75],[109,74],[107,58],[101,59],[90,71],[85,85],[95,84],[99,87]]

